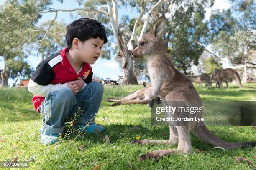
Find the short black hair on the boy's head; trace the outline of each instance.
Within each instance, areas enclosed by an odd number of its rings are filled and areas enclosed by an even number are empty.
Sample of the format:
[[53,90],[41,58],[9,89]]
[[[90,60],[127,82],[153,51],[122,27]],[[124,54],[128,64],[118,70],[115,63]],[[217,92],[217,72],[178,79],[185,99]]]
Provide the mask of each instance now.
[[90,38],[97,37],[104,40],[104,44],[108,42],[105,27],[97,20],[80,18],[67,26],[66,41],[68,48],[72,47],[74,38],[78,38],[80,41],[84,42]]

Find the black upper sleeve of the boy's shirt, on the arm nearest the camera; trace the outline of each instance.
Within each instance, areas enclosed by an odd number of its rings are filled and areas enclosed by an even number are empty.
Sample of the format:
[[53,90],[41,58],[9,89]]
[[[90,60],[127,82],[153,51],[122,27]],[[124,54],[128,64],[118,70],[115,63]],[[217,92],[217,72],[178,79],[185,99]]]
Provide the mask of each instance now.
[[31,80],[38,85],[49,85],[49,82],[55,77],[55,73],[52,67],[46,61],[42,61],[36,67],[36,71],[33,73]]

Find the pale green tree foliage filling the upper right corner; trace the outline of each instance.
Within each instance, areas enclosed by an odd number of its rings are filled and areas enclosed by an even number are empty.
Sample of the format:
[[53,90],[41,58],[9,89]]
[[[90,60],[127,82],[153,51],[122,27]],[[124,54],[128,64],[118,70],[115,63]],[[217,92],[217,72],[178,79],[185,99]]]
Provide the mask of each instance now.
[[215,11],[211,16],[212,46],[233,65],[245,64],[250,61],[249,51],[256,49],[256,5],[253,0],[232,2],[231,9]]

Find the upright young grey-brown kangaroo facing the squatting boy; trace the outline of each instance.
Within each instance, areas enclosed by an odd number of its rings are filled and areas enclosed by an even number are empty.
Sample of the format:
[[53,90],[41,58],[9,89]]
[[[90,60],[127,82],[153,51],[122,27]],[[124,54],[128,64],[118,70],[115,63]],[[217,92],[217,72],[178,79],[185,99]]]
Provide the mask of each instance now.
[[[172,66],[172,62],[165,53],[165,45],[161,40],[161,34],[164,32],[166,19],[165,16],[160,17],[151,30],[143,36],[138,42],[138,46],[133,50],[133,58],[146,58],[149,77],[151,79],[152,92],[149,96],[149,106],[153,107],[154,102],[161,103],[160,97],[163,100],[163,107],[167,106],[166,101],[197,101],[202,107],[202,100],[200,99],[197,90],[192,85],[192,82],[187,76],[180,73]],[[167,106],[168,107],[168,106]],[[172,115],[166,112],[166,116]],[[154,150],[153,152],[141,155],[139,160],[146,160],[154,158],[158,160],[164,155],[172,153],[193,153],[189,132],[192,131],[198,138],[205,142],[210,142],[215,146],[220,146],[226,149],[236,147],[245,147],[247,145],[256,145],[256,142],[238,142],[228,143],[218,136],[211,133],[206,126],[195,126],[187,123],[186,126],[172,126],[169,121],[169,140],[134,140],[133,144],[165,144],[170,145],[178,142],[177,149],[170,150]]]

